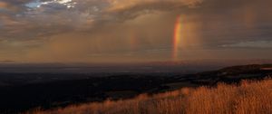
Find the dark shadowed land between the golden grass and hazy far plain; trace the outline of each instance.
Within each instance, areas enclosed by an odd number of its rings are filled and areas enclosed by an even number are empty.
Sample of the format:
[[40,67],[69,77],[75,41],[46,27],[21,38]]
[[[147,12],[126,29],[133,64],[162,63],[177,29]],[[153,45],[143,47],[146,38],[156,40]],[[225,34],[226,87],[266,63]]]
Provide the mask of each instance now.
[[[182,87],[214,86],[219,82],[236,83],[245,79],[262,80],[272,75],[271,68],[272,64],[256,64],[167,77],[152,74],[121,74],[63,81],[14,83],[13,85],[5,85],[6,81],[0,81],[2,83],[0,85],[0,113],[24,112],[34,108],[53,109],[106,99],[129,99],[141,93],[152,94],[177,90]],[[50,77],[57,74],[39,75]]]

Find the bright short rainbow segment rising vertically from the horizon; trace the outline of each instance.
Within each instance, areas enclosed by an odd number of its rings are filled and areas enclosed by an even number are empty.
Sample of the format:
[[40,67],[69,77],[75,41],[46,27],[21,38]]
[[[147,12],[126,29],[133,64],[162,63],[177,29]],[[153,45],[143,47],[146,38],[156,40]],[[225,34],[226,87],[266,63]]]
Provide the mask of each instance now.
[[173,60],[178,59],[178,53],[179,53],[179,46],[180,46],[180,40],[181,40],[181,16],[179,15],[177,17],[176,23],[175,23],[175,29],[174,29],[174,37],[173,37],[173,49],[172,49],[172,58]]

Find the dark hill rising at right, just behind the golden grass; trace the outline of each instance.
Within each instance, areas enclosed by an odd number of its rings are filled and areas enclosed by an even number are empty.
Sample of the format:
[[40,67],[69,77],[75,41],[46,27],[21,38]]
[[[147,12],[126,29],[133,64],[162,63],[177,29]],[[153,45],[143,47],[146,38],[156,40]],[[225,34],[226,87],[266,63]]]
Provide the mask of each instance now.
[[[187,81],[198,85],[214,85],[218,82],[234,83],[246,79],[263,79],[272,75],[272,64],[232,66],[218,71],[204,71],[186,76]],[[181,78],[182,79],[182,78]]]

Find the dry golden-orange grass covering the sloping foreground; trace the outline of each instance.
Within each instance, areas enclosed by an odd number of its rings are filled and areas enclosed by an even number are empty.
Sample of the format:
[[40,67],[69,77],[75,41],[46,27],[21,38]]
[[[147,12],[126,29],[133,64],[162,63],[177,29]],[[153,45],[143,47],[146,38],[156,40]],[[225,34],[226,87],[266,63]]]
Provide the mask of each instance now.
[[238,86],[219,84],[131,100],[105,100],[36,114],[272,114],[272,79],[242,81]]

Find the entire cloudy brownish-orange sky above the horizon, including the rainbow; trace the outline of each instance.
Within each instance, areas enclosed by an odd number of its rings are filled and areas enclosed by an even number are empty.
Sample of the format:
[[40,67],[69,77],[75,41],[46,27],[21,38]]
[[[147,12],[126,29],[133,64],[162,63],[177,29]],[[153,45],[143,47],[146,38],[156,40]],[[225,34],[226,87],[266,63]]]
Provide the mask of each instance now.
[[0,0],[0,62],[272,58],[271,0]]

